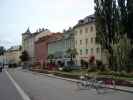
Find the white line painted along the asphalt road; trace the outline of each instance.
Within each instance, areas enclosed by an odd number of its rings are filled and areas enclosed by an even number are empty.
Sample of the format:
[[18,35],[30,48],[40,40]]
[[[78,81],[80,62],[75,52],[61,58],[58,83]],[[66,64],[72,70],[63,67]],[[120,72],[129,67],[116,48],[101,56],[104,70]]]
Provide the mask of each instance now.
[[12,83],[14,84],[14,86],[16,87],[17,91],[20,93],[21,97],[23,98],[23,100],[31,100],[29,98],[29,96],[24,92],[24,90],[16,83],[16,81],[12,78],[12,76],[5,71],[7,76],[9,77],[9,79],[12,81]]

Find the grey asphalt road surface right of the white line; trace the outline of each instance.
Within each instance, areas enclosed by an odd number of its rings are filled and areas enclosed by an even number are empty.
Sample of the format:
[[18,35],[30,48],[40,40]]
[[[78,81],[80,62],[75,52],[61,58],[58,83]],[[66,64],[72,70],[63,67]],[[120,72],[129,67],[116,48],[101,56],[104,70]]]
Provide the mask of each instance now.
[[14,69],[8,71],[31,100],[133,100],[133,94],[107,90],[79,90],[73,82],[51,78],[38,73]]

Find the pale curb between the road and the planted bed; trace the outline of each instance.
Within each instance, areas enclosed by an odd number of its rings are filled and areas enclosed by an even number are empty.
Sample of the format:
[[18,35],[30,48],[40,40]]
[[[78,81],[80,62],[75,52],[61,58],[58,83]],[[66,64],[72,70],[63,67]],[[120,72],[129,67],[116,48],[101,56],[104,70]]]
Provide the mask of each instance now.
[[[23,71],[30,71],[30,70],[23,70]],[[32,72],[32,73],[38,73],[38,72],[35,72],[35,71],[30,71],[30,72]],[[76,79],[63,78],[63,77],[55,76],[53,74],[45,74],[45,73],[38,73],[38,74],[45,75],[45,76],[52,77],[52,78],[56,78],[56,79],[71,81],[71,82],[74,82],[74,83],[79,82],[79,80],[76,80]],[[106,87],[106,88],[112,89],[112,90],[118,90],[118,91],[128,92],[128,93],[133,93],[133,90],[128,90],[128,89],[113,88],[113,87]]]

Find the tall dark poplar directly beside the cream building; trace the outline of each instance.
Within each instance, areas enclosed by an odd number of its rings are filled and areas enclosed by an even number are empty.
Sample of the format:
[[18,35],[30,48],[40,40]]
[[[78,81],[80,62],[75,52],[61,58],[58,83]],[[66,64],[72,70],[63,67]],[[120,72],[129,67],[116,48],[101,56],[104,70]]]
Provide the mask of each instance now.
[[95,0],[96,38],[103,49],[109,53],[109,66],[113,65],[112,44],[117,42],[116,0]]

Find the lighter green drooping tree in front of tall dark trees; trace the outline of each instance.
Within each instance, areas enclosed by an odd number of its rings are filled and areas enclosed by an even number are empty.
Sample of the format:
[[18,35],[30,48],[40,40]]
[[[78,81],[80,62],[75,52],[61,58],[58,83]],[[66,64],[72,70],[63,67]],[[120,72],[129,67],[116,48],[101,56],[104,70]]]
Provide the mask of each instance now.
[[121,70],[128,70],[127,65],[130,63],[130,55],[133,46],[131,45],[130,40],[124,35],[120,40],[119,43],[113,46],[114,50],[114,59],[117,64],[117,71]]

